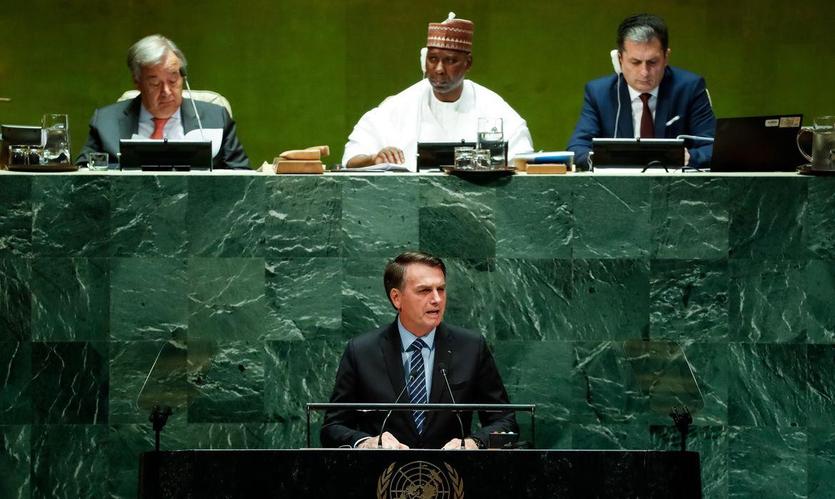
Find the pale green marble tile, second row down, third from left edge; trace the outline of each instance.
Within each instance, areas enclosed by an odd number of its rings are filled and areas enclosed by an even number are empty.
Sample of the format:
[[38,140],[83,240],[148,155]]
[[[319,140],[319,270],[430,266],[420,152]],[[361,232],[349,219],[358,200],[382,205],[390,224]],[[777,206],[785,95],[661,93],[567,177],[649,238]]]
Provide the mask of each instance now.
[[170,340],[185,336],[189,320],[186,260],[110,260],[110,338]]

